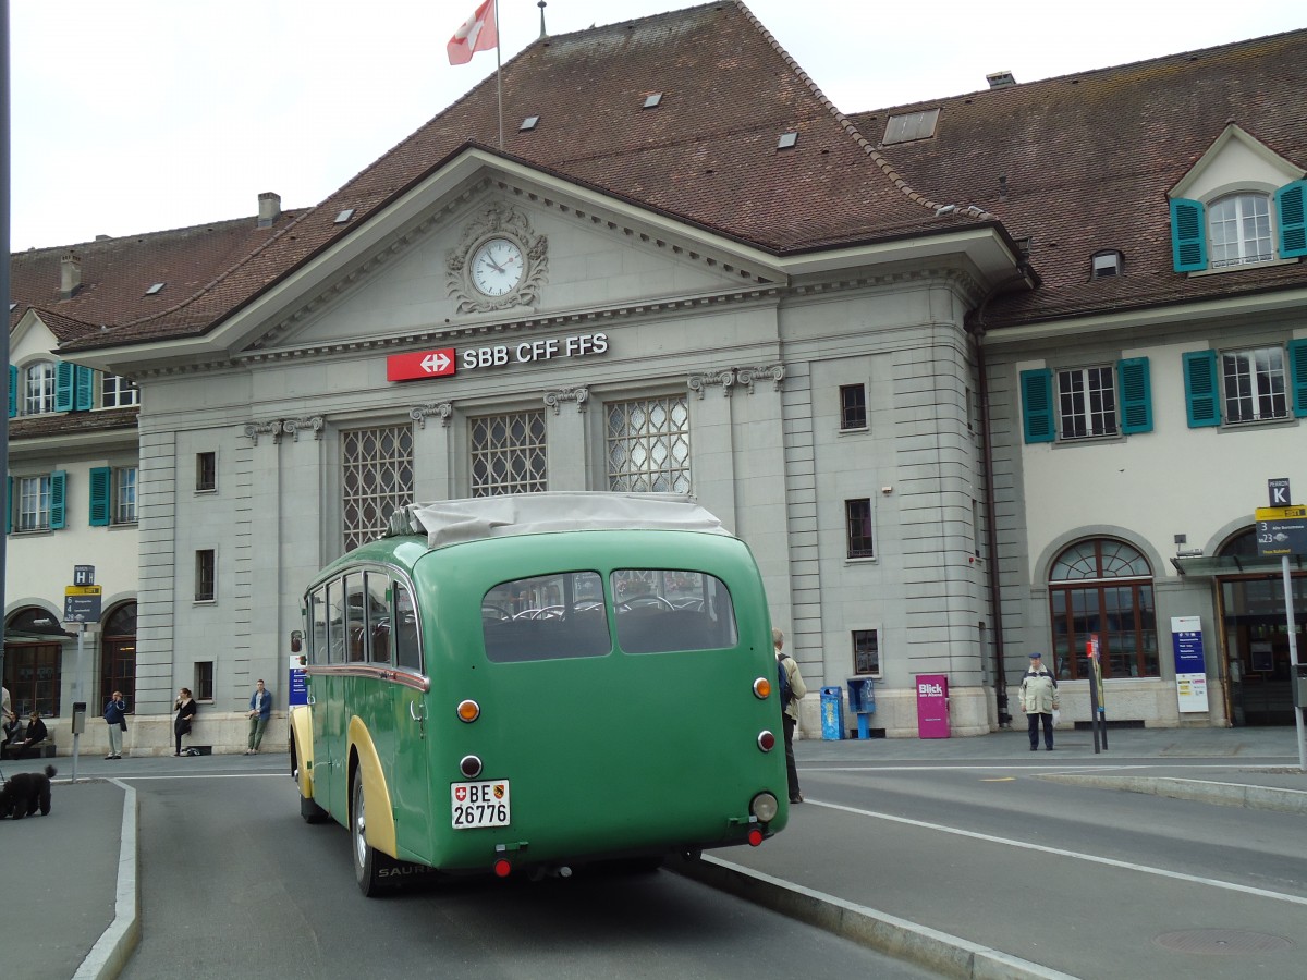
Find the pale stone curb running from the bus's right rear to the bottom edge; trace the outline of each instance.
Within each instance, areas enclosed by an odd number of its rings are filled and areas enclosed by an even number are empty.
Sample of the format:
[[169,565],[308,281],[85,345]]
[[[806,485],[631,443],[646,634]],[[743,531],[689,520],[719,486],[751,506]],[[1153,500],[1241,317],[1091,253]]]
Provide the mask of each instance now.
[[962,980],[1076,980],[1000,950],[805,889],[720,857],[672,858],[664,868],[774,912]]

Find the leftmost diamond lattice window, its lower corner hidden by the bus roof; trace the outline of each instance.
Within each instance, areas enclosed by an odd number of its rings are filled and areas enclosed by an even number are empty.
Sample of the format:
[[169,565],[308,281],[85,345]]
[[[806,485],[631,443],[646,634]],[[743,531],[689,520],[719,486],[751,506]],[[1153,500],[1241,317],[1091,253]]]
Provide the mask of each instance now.
[[412,427],[341,433],[341,523],[348,551],[379,537],[391,514],[413,502]]

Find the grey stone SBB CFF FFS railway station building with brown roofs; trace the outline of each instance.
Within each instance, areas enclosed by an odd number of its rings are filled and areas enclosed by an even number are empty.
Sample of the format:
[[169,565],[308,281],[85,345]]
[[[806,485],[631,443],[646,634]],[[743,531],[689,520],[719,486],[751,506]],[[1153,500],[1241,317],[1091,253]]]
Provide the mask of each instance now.
[[714,3],[541,37],[502,145],[491,76],[312,208],[14,253],[16,704],[67,741],[118,687],[162,753],[187,686],[237,750],[395,507],[616,490],[749,544],[806,737],[855,678],[876,734],[937,676],[953,736],[1019,723],[1035,651],[1086,723],[1091,648],[1110,721],[1293,723],[1307,31],[979,81],[836,107]]

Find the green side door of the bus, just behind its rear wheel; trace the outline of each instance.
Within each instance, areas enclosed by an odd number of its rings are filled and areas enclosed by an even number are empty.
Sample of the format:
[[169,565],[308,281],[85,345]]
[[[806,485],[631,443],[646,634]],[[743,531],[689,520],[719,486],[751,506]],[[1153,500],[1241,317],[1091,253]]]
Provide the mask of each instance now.
[[431,792],[427,780],[427,753],[434,732],[429,716],[430,698],[422,673],[422,645],[413,595],[400,581],[392,584],[395,668],[399,677],[391,685],[395,742],[391,766],[391,804],[395,808],[395,836],[400,848],[422,860],[431,858]]

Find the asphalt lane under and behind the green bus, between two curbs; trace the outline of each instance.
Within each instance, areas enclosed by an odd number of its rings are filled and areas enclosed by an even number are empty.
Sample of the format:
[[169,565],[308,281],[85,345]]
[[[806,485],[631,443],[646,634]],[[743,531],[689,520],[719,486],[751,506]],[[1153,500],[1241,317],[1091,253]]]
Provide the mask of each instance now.
[[345,830],[301,821],[284,767],[235,757],[187,775],[119,771],[139,794],[142,887],[123,977],[933,976],[665,870],[365,899]]

